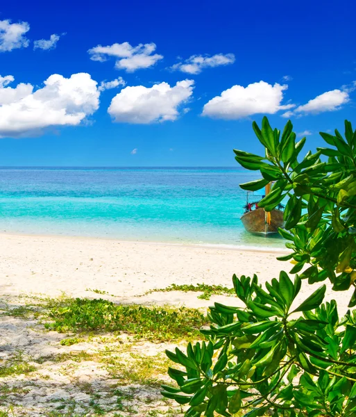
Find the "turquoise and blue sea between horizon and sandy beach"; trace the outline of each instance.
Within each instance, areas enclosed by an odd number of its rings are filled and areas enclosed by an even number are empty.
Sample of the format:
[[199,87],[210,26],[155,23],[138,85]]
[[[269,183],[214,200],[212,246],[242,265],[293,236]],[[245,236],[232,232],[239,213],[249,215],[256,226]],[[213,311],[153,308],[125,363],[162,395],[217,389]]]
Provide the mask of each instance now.
[[244,168],[0,168],[0,231],[284,247],[239,220]]

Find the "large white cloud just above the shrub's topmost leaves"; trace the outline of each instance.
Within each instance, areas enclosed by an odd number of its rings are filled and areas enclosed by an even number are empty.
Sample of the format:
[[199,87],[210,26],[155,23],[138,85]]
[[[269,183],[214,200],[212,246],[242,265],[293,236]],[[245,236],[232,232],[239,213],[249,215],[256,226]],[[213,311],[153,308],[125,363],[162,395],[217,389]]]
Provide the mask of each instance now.
[[256,113],[274,114],[280,110],[294,107],[294,104],[282,105],[283,91],[287,85],[271,85],[264,81],[242,87],[233,85],[221,95],[205,104],[203,116],[219,119],[241,119]]

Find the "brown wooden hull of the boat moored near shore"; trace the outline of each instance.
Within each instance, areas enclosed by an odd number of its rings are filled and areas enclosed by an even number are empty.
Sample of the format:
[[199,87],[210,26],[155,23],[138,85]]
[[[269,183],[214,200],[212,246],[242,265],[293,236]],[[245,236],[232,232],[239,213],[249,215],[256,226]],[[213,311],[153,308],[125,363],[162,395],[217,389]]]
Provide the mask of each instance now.
[[263,208],[256,208],[241,216],[241,222],[246,231],[256,234],[278,233],[278,227],[283,227],[283,212],[280,210],[271,211],[271,224],[266,223],[266,212]]

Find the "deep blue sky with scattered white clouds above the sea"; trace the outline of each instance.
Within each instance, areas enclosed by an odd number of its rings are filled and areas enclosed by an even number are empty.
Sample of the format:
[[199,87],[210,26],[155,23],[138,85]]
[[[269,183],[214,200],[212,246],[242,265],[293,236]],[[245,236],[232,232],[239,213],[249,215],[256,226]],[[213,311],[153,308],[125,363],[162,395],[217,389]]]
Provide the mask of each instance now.
[[1,166],[237,166],[251,124],[356,128],[356,5],[0,5]]

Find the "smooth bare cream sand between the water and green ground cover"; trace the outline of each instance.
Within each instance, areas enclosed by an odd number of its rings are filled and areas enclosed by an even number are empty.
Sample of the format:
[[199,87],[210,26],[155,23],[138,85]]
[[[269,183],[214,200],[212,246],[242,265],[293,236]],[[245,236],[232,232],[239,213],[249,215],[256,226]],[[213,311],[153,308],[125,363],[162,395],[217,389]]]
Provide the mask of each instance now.
[[[64,292],[76,297],[99,297],[89,291],[99,290],[118,302],[207,306],[226,297],[216,296],[212,301],[205,301],[198,300],[196,293],[180,292],[137,297],[171,284],[230,287],[234,273],[253,275],[255,272],[263,283],[278,277],[280,269],[290,269],[288,263],[277,261],[276,256],[275,251],[0,234],[0,291],[2,295],[58,296]],[[303,285],[298,300],[305,299],[318,286]],[[348,295],[328,288],[326,299],[331,298],[338,301],[340,312],[346,311]],[[229,303],[232,302],[237,301],[229,297]]]

